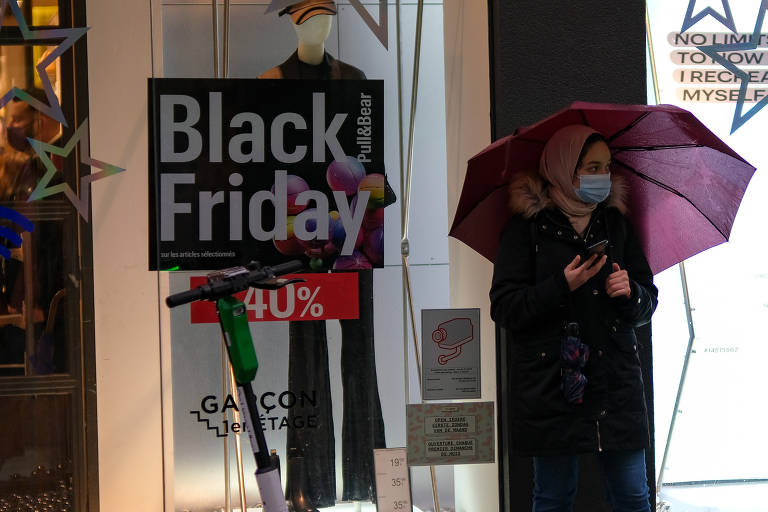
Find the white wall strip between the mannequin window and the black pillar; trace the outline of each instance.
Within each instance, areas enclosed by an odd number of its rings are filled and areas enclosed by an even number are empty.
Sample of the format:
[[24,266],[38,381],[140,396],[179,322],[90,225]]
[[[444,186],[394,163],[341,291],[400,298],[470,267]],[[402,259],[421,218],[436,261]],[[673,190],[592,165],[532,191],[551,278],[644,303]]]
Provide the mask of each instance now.
[[[456,212],[467,160],[491,141],[487,4],[464,0],[443,7],[449,219]],[[495,402],[495,334],[488,302],[492,265],[454,239],[449,261],[451,307],[480,306],[482,399]],[[497,464],[456,466],[454,481],[457,512],[498,510]]]

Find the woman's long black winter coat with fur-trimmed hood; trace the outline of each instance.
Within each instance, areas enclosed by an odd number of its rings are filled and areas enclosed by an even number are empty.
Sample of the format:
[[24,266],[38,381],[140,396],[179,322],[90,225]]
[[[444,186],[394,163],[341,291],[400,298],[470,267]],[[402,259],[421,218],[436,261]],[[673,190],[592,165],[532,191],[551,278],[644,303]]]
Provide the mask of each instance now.
[[[571,292],[563,269],[586,246],[608,239],[608,261]],[[629,299],[610,298],[605,280],[627,270]],[[565,455],[648,446],[648,419],[634,328],[650,321],[657,289],[639,241],[618,209],[598,205],[578,236],[556,208],[515,215],[502,232],[490,291],[491,317],[512,343],[512,448],[520,455]],[[560,342],[579,323],[591,355],[581,404],[560,391]]]

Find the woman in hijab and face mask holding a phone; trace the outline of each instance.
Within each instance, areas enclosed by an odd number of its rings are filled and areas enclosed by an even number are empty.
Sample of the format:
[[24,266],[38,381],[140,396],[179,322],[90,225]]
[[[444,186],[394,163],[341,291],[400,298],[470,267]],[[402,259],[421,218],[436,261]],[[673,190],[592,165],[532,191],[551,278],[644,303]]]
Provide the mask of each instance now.
[[[538,174],[511,184],[513,216],[499,243],[491,316],[513,344],[512,448],[533,456],[534,512],[571,510],[583,453],[597,455],[614,511],[650,510],[634,328],[650,321],[657,290],[610,161],[600,134],[567,126],[547,142]],[[588,256],[587,247],[604,239],[605,254]],[[564,328],[574,322],[589,357],[566,370]],[[573,371],[582,385],[575,396],[564,380]]]

